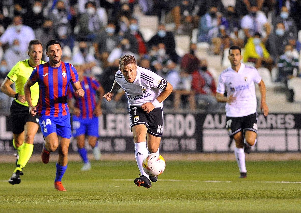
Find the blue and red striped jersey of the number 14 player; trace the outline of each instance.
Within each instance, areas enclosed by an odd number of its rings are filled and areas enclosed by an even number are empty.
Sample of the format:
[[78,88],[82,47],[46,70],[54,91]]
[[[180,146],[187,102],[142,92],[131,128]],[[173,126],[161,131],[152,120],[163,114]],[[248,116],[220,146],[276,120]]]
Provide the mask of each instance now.
[[37,105],[39,115],[65,116],[69,114],[67,91],[69,83],[78,82],[76,69],[70,63],[61,61],[59,67],[51,67],[49,62],[33,69],[30,81],[39,82],[40,96]]

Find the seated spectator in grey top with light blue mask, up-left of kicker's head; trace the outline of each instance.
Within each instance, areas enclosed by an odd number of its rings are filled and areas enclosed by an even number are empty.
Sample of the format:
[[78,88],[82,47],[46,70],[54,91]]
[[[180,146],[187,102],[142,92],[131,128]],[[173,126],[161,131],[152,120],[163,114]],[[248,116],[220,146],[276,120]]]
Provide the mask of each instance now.
[[107,67],[107,59],[111,51],[119,44],[118,36],[115,34],[116,26],[113,22],[109,22],[97,36],[93,43],[95,56]]

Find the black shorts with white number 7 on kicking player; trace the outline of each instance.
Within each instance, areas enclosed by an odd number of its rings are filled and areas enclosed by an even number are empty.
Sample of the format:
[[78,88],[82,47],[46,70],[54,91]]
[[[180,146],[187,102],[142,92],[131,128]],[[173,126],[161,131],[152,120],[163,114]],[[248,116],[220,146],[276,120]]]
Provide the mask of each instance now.
[[147,127],[147,132],[156,137],[162,137],[163,132],[163,110],[161,107],[154,108],[151,112],[144,112],[140,106],[129,107],[131,131],[132,127],[139,124],[144,124]]

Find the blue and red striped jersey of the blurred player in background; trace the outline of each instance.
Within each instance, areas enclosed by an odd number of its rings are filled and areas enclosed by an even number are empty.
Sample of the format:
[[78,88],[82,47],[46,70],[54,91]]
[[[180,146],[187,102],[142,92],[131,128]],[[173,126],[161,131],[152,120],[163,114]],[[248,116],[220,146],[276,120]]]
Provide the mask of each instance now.
[[84,76],[84,79],[80,82],[83,90],[85,91],[84,97],[77,97],[72,86],[68,89],[68,98],[75,98],[75,107],[79,108],[81,111],[81,118],[93,118],[93,110],[96,106],[95,95],[96,91],[100,87],[100,83],[91,77]]

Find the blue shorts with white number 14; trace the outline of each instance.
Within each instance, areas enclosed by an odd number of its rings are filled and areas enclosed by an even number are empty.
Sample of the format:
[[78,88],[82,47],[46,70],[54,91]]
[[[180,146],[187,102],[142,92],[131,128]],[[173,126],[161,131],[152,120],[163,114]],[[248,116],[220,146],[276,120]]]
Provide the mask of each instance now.
[[71,137],[70,114],[59,117],[41,115],[39,123],[45,138],[52,132],[64,138]]

